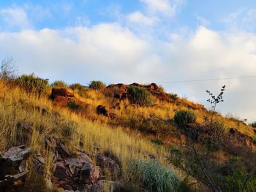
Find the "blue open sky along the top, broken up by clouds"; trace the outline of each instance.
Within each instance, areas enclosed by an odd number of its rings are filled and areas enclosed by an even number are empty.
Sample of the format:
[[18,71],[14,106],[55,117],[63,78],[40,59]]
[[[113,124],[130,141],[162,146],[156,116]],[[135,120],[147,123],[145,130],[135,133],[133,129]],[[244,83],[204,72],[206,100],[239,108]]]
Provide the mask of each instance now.
[[[180,2],[178,2],[180,1]],[[175,19],[166,20],[171,30],[178,28],[195,29],[204,24],[214,30],[229,30],[229,23],[223,20],[230,14],[241,12],[241,18],[246,16],[246,11],[256,7],[256,1],[247,0],[177,0],[178,8]],[[24,9],[33,27],[66,28],[67,26],[88,26],[105,22],[116,22],[116,13],[127,15],[135,11],[145,11],[145,3],[140,0],[75,0],[75,1],[0,1],[1,9],[20,7]],[[253,17],[253,16],[252,16]],[[236,18],[238,23],[241,22]],[[255,18],[253,18],[255,19]],[[243,28],[244,27],[244,28]],[[19,28],[1,26],[1,30],[18,31]],[[242,30],[255,32],[255,27],[241,26]]]

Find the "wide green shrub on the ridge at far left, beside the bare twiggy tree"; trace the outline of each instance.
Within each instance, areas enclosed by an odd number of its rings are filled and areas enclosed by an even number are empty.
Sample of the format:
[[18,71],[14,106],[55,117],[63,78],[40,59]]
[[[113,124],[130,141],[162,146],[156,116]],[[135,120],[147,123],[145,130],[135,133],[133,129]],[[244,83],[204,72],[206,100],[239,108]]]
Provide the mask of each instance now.
[[23,74],[16,79],[16,83],[28,93],[38,93],[39,96],[48,88],[48,80],[36,77],[34,74]]

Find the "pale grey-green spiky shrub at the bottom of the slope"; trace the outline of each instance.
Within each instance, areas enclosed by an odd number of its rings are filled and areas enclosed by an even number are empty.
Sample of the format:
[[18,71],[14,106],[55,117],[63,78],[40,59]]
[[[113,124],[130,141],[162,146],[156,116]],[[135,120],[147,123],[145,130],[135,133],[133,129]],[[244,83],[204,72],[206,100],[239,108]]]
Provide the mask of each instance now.
[[176,174],[157,161],[131,161],[128,175],[131,183],[152,192],[174,192],[180,187]]

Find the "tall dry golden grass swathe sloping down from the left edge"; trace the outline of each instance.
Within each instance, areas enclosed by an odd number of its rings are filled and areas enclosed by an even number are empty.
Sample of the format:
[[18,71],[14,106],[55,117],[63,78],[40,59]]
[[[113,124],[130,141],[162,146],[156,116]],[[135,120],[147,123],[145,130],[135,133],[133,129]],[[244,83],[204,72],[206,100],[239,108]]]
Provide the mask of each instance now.
[[[113,152],[121,160],[124,180],[129,177],[126,169],[132,159],[148,159],[151,154],[165,163],[165,149],[155,147],[138,132],[110,128],[99,121],[91,122],[67,108],[53,107],[47,96],[38,99],[20,88],[10,88],[4,82],[0,82],[0,88],[3,93],[0,99],[0,151],[21,144],[31,147],[32,154],[41,153],[45,157],[46,177],[49,177],[53,162],[53,153],[49,149],[45,151],[45,138],[48,137],[56,137],[74,151],[80,147],[92,156],[107,150]],[[89,99],[84,101],[89,102]],[[89,103],[97,106],[103,101],[91,99]],[[38,107],[49,113],[42,115]],[[19,128],[18,123],[27,123],[29,128]]]

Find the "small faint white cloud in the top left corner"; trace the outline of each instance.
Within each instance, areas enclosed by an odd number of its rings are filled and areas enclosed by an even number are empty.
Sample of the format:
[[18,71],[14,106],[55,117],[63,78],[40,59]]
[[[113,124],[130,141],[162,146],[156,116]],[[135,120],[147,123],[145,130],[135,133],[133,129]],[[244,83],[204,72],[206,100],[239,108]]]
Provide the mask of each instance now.
[[7,28],[25,29],[31,28],[28,15],[23,8],[12,7],[10,9],[0,9],[0,21]]

